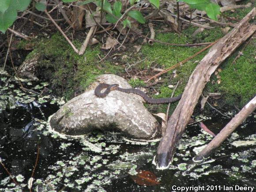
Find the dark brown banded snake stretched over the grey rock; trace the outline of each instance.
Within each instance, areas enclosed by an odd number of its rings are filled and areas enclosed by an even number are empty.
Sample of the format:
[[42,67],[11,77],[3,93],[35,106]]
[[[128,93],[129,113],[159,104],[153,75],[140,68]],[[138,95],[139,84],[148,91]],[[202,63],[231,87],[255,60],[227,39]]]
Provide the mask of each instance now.
[[[103,93],[101,93],[101,91],[103,89],[106,89]],[[109,94],[110,91],[112,90],[119,90],[121,92],[124,93],[133,93],[133,94],[138,94],[139,96],[141,96],[147,103],[150,104],[160,104],[160,103],[173,103],[173,102],[177,102],[178,100],[181,99],[182,94],[178,95],[175,98],[150,98],[148,97],[145,93],[143,93],[143,91],[138,90],[138,89],[123,89],[120,88],[118,84],[112,84],[109,85],[107,83],[100,83],[96,89],[94,90],[94,94],[99,97],[99,98],[105,98],[105,96],[107,96]]]

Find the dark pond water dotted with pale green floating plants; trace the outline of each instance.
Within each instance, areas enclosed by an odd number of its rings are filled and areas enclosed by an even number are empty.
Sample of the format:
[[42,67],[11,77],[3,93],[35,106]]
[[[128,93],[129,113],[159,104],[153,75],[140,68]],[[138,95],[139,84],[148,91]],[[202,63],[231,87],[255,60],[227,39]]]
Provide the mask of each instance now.
[[[224,185],[233,190],[236,185],[255,190],[256,118],[253,115],[207,159],[210,162],[201,165],[192,163],[191,159],[196,147],[209,143],[212,137],[204,134],[198,123],[189,125],[173,165],[167,170],[158,170],[152,165],[158,142],[136,145],[128,143],[119,133],[97,131],[84,138],[59,136],[49,131],[47,123],[48,117],[60,106],[57,100],[52,96],[23,94],[15,83],[8,79],[0,83],[0,99],[4,102],[0,105],[0,191],[29,191],[28,181],[36,162],[32,191],[169,192],[181,191],[177,188],[180,186],[194,187],[188,191],[223,191]],[[215,134],[230,120],[214,111],[197,119]],[[232,143],[239,140],[254,143],[235,147]],[[155,181],[151,182],[154,186],[138,184],[139,178],[131,176],[136,175],[136,170],[151,172],[159,184]]]

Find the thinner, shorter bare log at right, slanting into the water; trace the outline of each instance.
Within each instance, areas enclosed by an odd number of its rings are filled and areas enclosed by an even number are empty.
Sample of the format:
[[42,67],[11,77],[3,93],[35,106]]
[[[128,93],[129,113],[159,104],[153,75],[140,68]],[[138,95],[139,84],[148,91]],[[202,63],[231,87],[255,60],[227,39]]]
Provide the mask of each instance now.
[[237,128],[237,126],[240,125],[255,109],[256,96],[250,102],[248,102],[248,104],[245,105],[244,108],[238,114],[236,114],[236,116],[233,117],[233,119],[230,120],[228,124],[226,124],[226,126],[218,133],[218,135],[215,136],[215,138],[213,138],[211,142],[208,143],[208,145],[204,147],[197,156],[203,156],[204,158],[207,158],[211,152],[218,148],[221,143]]

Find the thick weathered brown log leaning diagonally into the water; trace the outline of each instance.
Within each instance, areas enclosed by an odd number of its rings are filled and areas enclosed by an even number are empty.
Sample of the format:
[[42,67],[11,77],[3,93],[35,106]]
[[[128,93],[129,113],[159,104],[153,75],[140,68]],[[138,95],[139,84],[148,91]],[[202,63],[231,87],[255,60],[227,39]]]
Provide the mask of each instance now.
[[256,25],[249,23],[255,14],[256,9],[253,8],[230,33],[213,45],[190,76],[182,98],[170,117],[166,133],[158,146],[156,163],[161,169],[167,168],[172,161],[176,143],[181,138],[211,74],[215,72],[222,61],[256,31]]

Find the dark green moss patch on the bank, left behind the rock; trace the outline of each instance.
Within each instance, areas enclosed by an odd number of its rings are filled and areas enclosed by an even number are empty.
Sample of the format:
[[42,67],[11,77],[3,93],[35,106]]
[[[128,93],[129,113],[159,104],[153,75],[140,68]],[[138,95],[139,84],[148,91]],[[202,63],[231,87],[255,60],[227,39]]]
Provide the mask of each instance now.
[[[73,44],[77,49],[81,46],[79,41],[73,41]],[[83,92],[96,76],[122,70],[108,61],[101,63],[104,69],[98,69],[96,64],[98,54],[101,53],[100,45],[87,47],[83,55],[78,55],[58,33],[49,39],[41,39],[32,53],[39,53],[43,58],[39,64],[40,75],[49,79],[53,89],[63,91],[67,100],[72,98],[75,92]]]

